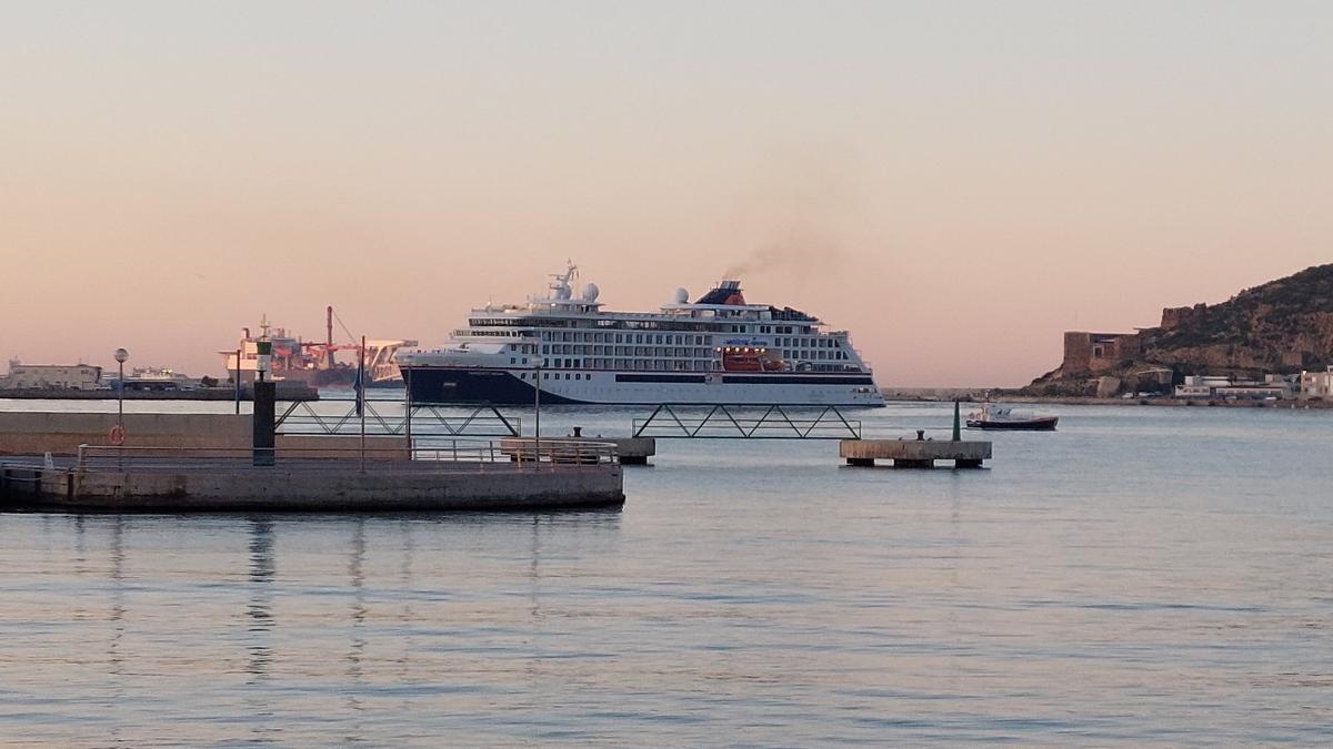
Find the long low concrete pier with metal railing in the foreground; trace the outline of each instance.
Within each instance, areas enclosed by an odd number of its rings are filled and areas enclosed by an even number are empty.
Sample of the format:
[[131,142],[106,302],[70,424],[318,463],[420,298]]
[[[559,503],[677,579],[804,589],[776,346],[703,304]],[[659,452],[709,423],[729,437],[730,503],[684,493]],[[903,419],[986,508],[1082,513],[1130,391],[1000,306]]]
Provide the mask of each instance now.
[[[592,449],[584,445],[585,454]],[[495,453],[479,446],[455,460],[280,454],[276,465],[260,466],[248,458],[215,457],[216,450],[191,457],[181,450],[85,448],[79,458],[0,462],[0,510],[479,512],[625,501],[611,446],[569,464],[487,458]]]

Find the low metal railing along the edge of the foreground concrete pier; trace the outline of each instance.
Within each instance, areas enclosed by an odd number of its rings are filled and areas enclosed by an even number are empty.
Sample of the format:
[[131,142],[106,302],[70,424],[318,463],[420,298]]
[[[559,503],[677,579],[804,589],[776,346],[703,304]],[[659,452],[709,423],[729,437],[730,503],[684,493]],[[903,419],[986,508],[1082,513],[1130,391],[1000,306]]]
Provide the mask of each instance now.
[[[348,465],[388,472],[457,472],[497,469],[499,464],[548,470],[617,462],[615,442],[592,440],[435,438],[431,442],[411,448],[368,445],[364,449],[277,446],[272,460],[273,468],[284,472],[320,472],[332,466],[345,469]],[[73,469],[169,472],[235,470],[243,466],[255,466],[251,448],[79,445]]]

